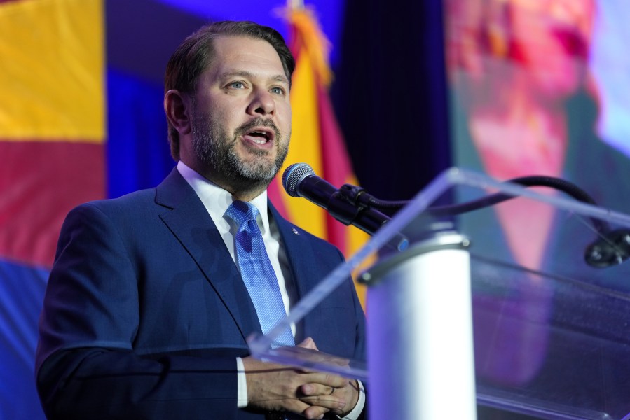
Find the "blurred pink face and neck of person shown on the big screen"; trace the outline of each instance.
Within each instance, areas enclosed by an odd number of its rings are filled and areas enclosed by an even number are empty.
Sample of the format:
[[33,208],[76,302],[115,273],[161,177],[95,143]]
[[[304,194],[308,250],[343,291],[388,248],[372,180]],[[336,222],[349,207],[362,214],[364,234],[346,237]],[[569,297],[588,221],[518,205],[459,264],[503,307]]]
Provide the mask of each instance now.
[[[563,176],[571,133],[594,137],[596,106],[568,106],[577,97],[595,102],[587,72],[594,13],[593,0],[446,1],[456,165],[500,180]],[[577,115],[580,130],[570,125]],[[540,267],[552,209],[506,203],[497,211],[516,261]]]

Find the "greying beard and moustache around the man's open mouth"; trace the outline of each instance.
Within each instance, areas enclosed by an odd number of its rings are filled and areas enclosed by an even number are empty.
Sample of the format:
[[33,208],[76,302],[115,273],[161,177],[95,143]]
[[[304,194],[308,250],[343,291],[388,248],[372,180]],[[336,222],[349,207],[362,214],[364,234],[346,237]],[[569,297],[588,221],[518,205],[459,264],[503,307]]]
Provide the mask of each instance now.
[[[275,131],[275,141],[278,142],[275,160],[266,159],[268,153],[266,151],[251,151],[256,159],[245,162],[236,152],[238,137],[249,132],[252,127],[260,125],[271,127]],[[193,150],[199,162],[210,168],[215,176],[229,180],[236,186],[267,186],[280,171],[289,151],[288,143],[281,141],[278,128],[271,121],[262,118],[238,127],[232,139],[222,127],[210,124],[207,118],[200,118],[198,115],[193,117],[191,130]]]

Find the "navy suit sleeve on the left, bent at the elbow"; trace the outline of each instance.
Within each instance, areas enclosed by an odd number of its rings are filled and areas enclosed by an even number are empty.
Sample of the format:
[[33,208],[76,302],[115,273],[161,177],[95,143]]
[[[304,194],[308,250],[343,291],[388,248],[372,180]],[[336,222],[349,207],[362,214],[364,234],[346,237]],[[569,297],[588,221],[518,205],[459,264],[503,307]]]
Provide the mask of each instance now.
[[36,384],[48,419],[248,418],[236,403],[235,356],[244,354],[133,351],[137,279],[110,219],[91,204],[72,211],[40,319]]

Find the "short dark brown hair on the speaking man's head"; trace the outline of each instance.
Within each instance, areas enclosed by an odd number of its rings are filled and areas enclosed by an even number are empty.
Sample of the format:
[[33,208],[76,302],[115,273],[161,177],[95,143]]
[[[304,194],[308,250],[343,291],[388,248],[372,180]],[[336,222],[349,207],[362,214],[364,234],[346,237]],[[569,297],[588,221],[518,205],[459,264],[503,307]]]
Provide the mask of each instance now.
[[[225,20],[201,27],[179,45],[166,66],[165,93],[171,89],[188,94],[195,92],[199,75],[212,62],[214,38],[219,36],[247,36],[267,41],[278,52],[282,68],[291,83],[295,59],[278,31],[255,22]],[[179,160],[179,132],[170,123],[168,123],[168,141],[173,159]]]

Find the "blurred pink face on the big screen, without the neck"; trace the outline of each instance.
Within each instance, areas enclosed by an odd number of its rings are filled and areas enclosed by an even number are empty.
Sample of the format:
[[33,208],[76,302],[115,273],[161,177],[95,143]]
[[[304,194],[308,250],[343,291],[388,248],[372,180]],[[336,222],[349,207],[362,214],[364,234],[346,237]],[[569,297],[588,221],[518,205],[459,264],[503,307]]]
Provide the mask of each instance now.
[[488,84],[515,81],[547,100],[566,97],[586,81],[594,11],[592,0],[448,0],[449,73],[478,87],[477,100]]

